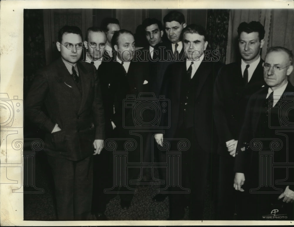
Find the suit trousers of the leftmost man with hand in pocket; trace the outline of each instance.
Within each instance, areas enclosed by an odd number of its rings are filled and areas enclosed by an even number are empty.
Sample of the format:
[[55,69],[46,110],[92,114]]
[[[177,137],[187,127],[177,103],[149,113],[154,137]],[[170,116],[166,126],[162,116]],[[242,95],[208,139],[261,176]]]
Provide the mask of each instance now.
[[47,157],[53,173],[58,220],[87,220],[93,190],[92,156],[79,161]]

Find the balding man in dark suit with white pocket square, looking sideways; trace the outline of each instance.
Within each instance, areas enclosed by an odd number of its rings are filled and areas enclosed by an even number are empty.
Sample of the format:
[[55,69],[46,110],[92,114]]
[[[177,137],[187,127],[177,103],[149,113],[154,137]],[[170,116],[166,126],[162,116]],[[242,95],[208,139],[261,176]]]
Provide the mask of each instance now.
[[[133,61],[135,40],[133,34],[127,30],[114,33],[112,46],[115,52],[110,62],[103,62],[98,68],[101,78],[103,104],[105,104],[106,133],[117,131],[118,138],[133,138],[137,141],[137,149],[129,152],[128,163],[141,162],[140,138],[130,135],[125,125],[134,126],[132,109],[124,109],[123,99],[127,95],[138,98],[140,92],[148,92],[148,62]],[[123,118],[124,117],[124,118]],[[137,128],[138,129],[138,128]],[[140,171],[137,168],[128,169],[128,186],[131,179],[138,179]],[[128,209],[133,194],[120,194],[121,207]]]

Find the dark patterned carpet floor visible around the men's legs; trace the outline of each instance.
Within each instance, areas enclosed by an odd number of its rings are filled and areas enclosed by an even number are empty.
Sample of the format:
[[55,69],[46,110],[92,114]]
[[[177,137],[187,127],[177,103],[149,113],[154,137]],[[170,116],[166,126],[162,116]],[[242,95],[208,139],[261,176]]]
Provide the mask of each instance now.
[[[46,155],[39,152],[35,155],[35,187],[44,189],[43,193],[24,194],[24,220],[56,220],[54,202],[54,190],[51,173],[46,160]],[[155,177],[158,173],[155,171]],[[120,198],[116,195],[107,205],[106,216],[108,220],[167,220],[169,212],[168,197],[162,202],[154,202],[152,197],[157,194],[159,185],[137,185],[137,194],[134,195],[131,207],[128,210],[121,209]],[[215,220],[215,206],[210,185],[207,188],[206,204],[204,210],[205,220]],[[24,191],[38,191],[31,187],[25,187]],[[186,209],[185,220],[188,217]],[[94,215],[91,220],[96,220]]]

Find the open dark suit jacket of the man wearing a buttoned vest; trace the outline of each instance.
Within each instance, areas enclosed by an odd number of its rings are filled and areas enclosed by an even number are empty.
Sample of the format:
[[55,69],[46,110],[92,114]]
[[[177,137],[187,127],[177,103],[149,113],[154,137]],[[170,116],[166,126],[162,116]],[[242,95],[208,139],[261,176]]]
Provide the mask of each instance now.
[[[218,70],[221,67],[219,62],[201,62],[194,77],[195,98],[194,98],[194,129],[198,144],[203,150],[211,152],[214,141],[213,138],[213,85]],[[170,99],[170,125],[163,138],[173,138],[178,127],[178,116],[181,94],[181,77],[186,74],[186,61],[175,62],[169,66],[163,81],[161,94]],[[168,119],[164,116],[165,120]],[[164,124],[166,125],[167,122]]]

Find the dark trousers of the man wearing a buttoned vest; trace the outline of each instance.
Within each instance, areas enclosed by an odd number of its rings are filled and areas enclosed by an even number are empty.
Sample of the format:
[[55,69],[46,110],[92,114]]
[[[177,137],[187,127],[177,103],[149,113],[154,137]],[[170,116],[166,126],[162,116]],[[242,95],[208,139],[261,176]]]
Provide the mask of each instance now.
[[[190,189],[190,193],[173,193],[170,189],[170,219],[182,219],[185,207],[189,206],[189,219],[202,220],[210,153],[198,144],[193,127],[179,127],[174,138],[186,138],[191,143],[190,148],[181,153],[181,185]],[[177,150],[177,145],[172,143],[172,148]]]

